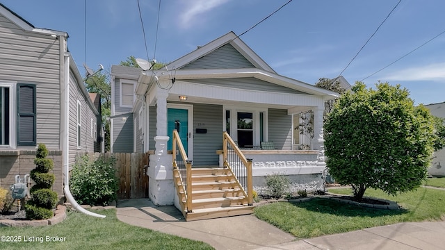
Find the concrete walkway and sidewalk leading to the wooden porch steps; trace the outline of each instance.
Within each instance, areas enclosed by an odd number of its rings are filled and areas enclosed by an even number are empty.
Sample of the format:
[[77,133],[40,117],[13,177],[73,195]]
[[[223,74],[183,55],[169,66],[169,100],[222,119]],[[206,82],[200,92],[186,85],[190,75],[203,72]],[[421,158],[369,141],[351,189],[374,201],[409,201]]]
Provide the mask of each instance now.
[[254,215],[185,222],[174,206],[148,199],[119,201],[120,221],[209,243],[215,249],[445,249],[445,222],[401,223],[298,240]]

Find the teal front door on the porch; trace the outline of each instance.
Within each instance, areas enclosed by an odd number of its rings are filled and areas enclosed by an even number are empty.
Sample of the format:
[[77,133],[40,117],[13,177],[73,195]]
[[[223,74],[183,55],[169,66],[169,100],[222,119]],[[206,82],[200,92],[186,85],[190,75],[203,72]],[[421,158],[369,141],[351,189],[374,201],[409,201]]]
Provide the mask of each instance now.
[[188,153],[188,110],[181,108],[167,109],[168,150],[172,150],[173,131],[177,130],[179,138]]

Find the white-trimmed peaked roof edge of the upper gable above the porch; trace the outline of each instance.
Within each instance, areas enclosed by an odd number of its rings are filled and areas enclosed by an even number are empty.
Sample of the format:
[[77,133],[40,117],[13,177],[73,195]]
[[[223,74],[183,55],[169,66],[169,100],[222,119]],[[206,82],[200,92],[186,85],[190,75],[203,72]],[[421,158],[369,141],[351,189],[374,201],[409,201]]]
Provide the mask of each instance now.
[[[226,50],[232,49],[233,52],[234,49],[236,52],[241,54],[241,56],[245,59],[244,63],[248,62],[253,67],[264,70],[266,72],[273,72],[276,74],[275,70],[273,70],[272,67],[270,67],[263,59],[261,59],[257,55],[257,53],[255,53],[252,49],[250,49],[250,47],[248,47],[248,45],[245,44],[240,38],[238,38],[238,36],[235,35],[235,33],[232,31],[223,36],[220,36],[220,38],[216,38],[216,40],[213,40],[202,47],[197,47],[195,51],[192,51],[191,53],[188,53],[185,56],[178,58],[172,63],[169,63],[167,65],[167,68],[181,69],[192,62],[198,62],[199,60],[202,60],[204,56],[209,56],[212,53],[218,53],[218,49],[224,47]],[[245,66],[247,67],[247,64]]]

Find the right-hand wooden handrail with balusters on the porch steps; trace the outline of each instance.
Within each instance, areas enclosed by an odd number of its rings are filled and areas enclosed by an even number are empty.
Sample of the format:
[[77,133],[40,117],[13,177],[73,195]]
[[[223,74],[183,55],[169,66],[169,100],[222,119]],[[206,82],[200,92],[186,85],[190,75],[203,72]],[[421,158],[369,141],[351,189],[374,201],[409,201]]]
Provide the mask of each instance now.
[[[236,153],[236,155],[238,156],[238,158],[240,158],[241,162],[243,162],[243,165],[246,167],[247,169],[247,177],[248,177],[248,183],[247,183],[247,190],[243,190],[243,194],[245,195],[245,197],[248,197],[248,205],[252,206],[253,204],[253,180],[252,180],[252,159],[248,159],[245,158],[243,152],[241,152],[241,150],[238,148],[238,146],[236,145],[236,143],[234,142],[234,140],[232,140],[232,138],[230,137],[229,133],[227,133],[226,131],[223,132],[223,162],[224,162],[224,167],[227,167],[229,169],[229,171],[232,173],[233,176],[235,176],[234,172],[232,171],[232,168],[230,167],[229,163],[227,162],[227,142],[229,142],[230,146],[232,146],[232,149],[234,149],[234,152]],[[238,185],[241,184],[238,181],[238,178],[236,178],[236,182],[238,183]],[[247,194],[246,194],[247,191]]]

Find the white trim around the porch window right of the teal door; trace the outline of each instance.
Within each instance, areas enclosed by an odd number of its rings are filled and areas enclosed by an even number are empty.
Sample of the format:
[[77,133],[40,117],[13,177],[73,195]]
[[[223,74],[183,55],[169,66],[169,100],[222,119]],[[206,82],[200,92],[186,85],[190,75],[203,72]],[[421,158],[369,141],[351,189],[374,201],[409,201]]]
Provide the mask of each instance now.
[[237,128],[237,115],[238,112],[246,112],[246,113],[252,113],[253,114],[253,122],[254,122],[254,138],[253,138],[253,144],[254,146],[259,146],[260,144],[260,138],[259,138],[259,113],[264,113],[264,141],[267,142],[269,135],[268,135],[268,109],[267,108],[246,108],[243,106],[223,106],[223,131],[226,131],[225,128],[225,111],[230,110],[230,136],[233,140],[236,140],[238,138],[238,128]]

